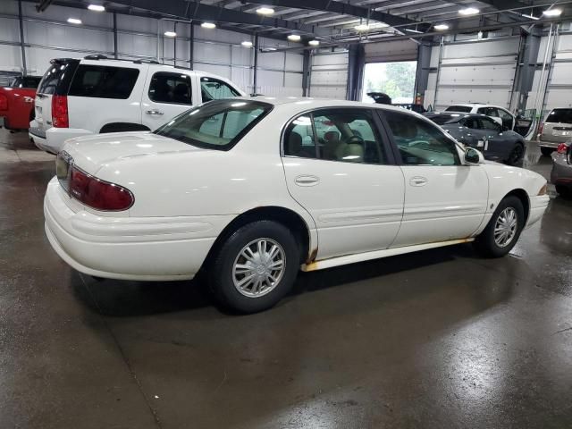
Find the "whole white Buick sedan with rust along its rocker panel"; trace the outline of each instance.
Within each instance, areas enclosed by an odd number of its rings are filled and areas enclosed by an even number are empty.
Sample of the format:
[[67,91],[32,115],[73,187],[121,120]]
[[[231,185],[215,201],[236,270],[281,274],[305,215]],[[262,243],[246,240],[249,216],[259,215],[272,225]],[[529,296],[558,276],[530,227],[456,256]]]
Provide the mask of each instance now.
[[475,241],[509,252],[548,204],[535,172],[484,162],[388,105],[272,97],[199,105],[155,132],[69,140],[46,234],[82,273],[205,274],[223,305],[272,307],[312,271]]

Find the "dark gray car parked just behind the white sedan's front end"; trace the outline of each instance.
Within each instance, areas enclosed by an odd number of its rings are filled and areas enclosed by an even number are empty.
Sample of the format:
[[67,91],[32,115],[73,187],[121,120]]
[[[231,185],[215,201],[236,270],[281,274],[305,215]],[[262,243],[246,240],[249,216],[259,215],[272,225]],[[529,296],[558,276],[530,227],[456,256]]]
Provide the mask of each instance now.
[[484,114],[442,112],[425,114],[458,142],[483,152],[486,159],[509,165],[522,162],[525,139]]

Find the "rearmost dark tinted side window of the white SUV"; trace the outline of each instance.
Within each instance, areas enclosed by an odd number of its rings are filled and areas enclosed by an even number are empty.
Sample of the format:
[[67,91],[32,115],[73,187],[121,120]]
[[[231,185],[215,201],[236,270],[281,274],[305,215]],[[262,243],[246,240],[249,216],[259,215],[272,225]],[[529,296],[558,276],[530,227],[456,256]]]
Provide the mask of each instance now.
[[138,69],[80,64],[69,96],[127,99],[137,82]]

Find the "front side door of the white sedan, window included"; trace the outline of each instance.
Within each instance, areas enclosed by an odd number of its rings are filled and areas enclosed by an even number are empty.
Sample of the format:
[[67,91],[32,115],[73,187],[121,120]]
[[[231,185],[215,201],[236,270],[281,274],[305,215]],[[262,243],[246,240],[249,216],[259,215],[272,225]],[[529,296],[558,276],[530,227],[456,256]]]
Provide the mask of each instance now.
[[392,111],[383,117],[405,177],[403,221],[391,247],[470,237],[486,211],[484,168],[461,164],[457,143],[433,122]]

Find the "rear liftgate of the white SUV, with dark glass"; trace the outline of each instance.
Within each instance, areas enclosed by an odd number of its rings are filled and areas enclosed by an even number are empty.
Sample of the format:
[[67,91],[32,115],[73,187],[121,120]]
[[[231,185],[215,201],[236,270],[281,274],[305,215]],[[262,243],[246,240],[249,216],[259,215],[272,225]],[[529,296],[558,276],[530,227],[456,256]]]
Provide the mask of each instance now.
[[36,92],[34,105],[37,126],[30,128],[32,134],[46,137],[46,130],[52,127],[52,97],[67,95],[71,78],[79,63],[79,60],[52,60]]

